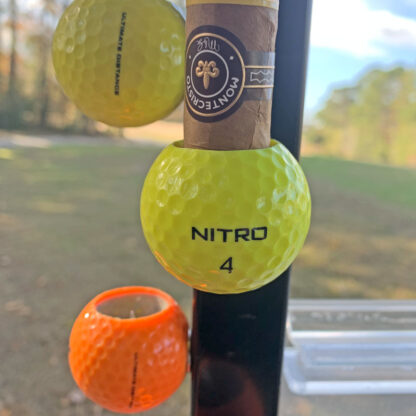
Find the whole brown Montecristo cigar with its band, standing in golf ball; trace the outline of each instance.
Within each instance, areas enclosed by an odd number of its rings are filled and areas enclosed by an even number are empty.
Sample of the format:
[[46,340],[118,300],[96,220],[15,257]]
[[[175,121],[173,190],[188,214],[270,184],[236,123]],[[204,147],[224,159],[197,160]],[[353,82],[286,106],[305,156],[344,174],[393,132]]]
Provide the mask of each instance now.
[[270,145],[279,0],[188,0],[184,146]]

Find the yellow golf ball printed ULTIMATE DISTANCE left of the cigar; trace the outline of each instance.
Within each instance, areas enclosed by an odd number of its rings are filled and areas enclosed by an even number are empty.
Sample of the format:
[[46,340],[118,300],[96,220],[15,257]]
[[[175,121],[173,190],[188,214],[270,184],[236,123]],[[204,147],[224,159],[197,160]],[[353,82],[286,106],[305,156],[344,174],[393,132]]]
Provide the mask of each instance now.
[[56,77],[87,116],[136,127],[184,93],[184,19],[167,0],[75,0],[52,45]]

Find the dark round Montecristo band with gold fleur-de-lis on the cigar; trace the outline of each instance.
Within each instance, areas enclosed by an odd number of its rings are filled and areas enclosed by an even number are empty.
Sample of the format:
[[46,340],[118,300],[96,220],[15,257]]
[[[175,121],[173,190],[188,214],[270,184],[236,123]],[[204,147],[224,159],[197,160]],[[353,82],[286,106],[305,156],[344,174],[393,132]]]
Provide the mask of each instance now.
[[189,113],[209,123],[229,117],[246,100],[271,100],[274,59],[274,52],[247,51],[224,28],[198,27],[189,35],[186,48]]

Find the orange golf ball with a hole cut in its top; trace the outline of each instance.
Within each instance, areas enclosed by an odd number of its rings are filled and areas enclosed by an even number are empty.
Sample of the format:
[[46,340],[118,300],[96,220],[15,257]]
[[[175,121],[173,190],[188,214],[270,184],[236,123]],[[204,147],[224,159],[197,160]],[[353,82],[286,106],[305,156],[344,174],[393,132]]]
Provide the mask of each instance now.
[[85,306],[72,328],[72,375],[88,398],[108,410],[148,410],[182,383],[187,335],[185,315],[161,290],[104,292]]

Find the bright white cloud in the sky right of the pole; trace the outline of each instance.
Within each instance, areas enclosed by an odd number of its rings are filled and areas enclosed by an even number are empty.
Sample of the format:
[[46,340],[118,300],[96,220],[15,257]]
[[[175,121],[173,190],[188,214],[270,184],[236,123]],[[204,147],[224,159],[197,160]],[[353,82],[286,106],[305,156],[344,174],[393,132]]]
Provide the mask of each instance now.
[[356,56],[384,55],[391,46],[416,50],[416,20],[371,10],[365,0],[314,0],[311,42]]

